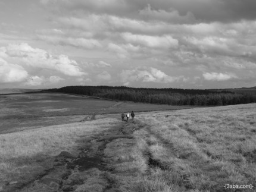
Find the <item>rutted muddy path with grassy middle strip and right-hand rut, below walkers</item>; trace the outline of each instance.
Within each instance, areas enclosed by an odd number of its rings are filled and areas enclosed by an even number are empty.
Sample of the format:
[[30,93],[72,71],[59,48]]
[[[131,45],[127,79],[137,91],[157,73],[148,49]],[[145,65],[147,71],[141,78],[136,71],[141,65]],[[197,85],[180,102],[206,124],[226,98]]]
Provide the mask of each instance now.
[[[120,103],[115,103],[120,105]],[[113,107],[113,106],[110,106]],[[86,119],[91,121],[95,119]],[[139,149],[136,130],[143,130],[145,147]],[[82,139],[79,155],[61,152],[54,157],[52,168],[26,183],[8,184],[5,191],[104,191],[120,192],[132,187],[141,178],[151,178],[152,170],[169,169],[166,162],[154,157],[151,152],[150,137],[166,147],[168,153],[175,155],[171,143],[164,140],[160,134],[152,131],[150,125],[135,119],[129,122],[114,122],[108,131]],[[142,136],[139,136],[142,138]],[[139,183],[143,183],[140,181]],[[135,188],[136,190],[139,187]],[[133,191],[130,190],[130,191]]]

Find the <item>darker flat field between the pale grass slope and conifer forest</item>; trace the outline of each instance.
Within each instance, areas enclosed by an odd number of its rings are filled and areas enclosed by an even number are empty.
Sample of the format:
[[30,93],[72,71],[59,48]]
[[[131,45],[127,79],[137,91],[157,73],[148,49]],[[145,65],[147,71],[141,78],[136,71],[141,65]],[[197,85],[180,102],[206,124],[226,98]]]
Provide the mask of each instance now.
[[[0,134],[27,128],[79,122],[86,115],[131,111],[161,111],[189,106],[115,102],[63,93],[24,93],[0,95]],[[117,115],[120,117],[120,115]]]

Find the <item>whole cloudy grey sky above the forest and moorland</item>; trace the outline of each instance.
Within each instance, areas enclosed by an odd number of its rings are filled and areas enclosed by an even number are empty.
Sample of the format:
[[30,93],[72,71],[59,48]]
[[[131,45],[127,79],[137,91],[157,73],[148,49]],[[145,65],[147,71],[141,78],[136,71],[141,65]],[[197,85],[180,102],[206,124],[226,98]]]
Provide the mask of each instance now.
[[0,0],[0,88],[256,86],[255,0]]

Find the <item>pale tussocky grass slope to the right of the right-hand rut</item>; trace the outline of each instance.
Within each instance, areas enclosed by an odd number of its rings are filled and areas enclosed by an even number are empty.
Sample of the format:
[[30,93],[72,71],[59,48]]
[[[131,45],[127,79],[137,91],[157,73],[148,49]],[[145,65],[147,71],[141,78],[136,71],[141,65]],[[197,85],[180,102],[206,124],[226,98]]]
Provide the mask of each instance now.
[[167,183],[170,191],[221,191],[224,184],[255,185],[255,108],[248,104],[140,115],[148,127],[137,131],[136,137],[146,141],[157,162],[151,170],[168,179],[158,176],[155,180],[151,174],[139,186],[152,184],[152,180]]

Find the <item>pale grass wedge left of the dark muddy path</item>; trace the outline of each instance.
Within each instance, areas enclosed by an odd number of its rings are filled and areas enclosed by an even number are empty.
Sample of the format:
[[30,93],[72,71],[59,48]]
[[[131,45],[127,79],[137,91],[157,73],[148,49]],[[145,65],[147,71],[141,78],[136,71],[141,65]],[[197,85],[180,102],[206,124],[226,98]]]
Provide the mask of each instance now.
[[0,181],[31,180],[51,168],[52,156],[63,150],[76,155],[86,137],[108,130],[112,124],[113,119],[101,119],[0,134]]

